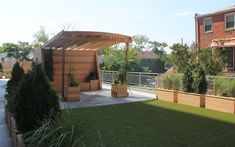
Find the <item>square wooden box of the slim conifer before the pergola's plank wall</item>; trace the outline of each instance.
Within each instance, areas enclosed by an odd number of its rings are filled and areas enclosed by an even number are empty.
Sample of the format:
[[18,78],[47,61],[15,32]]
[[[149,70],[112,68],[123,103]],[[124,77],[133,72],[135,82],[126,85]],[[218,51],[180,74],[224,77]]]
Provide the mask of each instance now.
[[68,87],[64,89],[65,100],[67,101],[79,101],[80,100],[80,86]]

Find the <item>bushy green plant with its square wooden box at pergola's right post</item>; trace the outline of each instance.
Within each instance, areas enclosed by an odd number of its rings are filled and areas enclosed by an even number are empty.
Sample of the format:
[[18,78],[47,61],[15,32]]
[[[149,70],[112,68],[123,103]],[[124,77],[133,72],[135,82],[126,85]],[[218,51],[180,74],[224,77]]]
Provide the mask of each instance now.
[[128,97],[126,75],[127,72],[124,68],[117,72],[114,84],[111,87],[112,97]]

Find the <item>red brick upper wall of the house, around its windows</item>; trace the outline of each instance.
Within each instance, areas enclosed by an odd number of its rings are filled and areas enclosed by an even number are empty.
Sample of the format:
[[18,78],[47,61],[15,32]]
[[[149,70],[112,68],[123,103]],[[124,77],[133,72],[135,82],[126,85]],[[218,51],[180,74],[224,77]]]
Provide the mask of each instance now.
[[[233,11],[235,12],[235,11]],[[232,13],[232,12],[229,12]],[[227,13],[225,13],[227,14]],[[207,48],[210,47],[211,42],[213,39],[223,39],[223,38],[234,38],[235,37],[235,29],[226,31],[225,30],[225,14],[217,14],[212,17],[212,32],[205,33],[204,26],[203,26],[203,19],[207,18],[199,18],[199,30],[198,30],[198,43],[200,48]],[[209,16],[210,17],[210,16]]]

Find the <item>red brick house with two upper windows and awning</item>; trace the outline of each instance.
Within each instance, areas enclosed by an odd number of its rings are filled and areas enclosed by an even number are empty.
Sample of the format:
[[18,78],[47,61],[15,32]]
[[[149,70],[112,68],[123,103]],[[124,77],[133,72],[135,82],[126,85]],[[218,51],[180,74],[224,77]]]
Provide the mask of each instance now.
[[195,14],[195,31],[199,49],[225,47],[227,68],[235,70],[235,5],[207,14]]

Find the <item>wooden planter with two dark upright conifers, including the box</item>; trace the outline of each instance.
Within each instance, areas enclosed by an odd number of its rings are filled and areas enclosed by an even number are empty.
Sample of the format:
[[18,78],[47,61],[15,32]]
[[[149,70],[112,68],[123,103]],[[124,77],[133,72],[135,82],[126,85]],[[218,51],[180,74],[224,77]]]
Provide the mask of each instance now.
[[183,90],[184,92],[178,92],[178,103],[196,107],[205,107],[207,82],[205,72],[201,66],[198,66],[195,77],[193,77],[192,70],[189,66],[185,67]]

